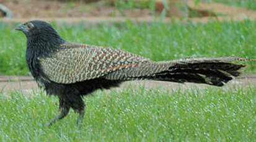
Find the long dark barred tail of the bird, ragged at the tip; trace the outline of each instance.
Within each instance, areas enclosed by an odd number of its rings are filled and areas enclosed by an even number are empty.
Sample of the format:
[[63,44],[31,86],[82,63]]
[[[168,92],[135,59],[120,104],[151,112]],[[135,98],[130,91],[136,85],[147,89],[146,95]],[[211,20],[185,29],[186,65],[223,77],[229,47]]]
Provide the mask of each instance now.
[[221,57],[147,62],[133,68],[110,73],[106,78],[117,80],[149,79],[223,86],[232,78],[239,76],[239,69],[245,67],[242,64],[234,64],[232,61],[256,61],[256,59]]

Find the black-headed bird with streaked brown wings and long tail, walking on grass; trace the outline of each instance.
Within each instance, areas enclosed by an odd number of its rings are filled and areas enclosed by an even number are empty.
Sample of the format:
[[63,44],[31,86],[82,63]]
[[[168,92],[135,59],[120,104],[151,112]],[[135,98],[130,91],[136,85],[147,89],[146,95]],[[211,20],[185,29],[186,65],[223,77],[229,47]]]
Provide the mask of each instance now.
[[21,23],[15,30],[27,38],[26,63],[38,86],[58,97],[58,114],[46,123],[48,126],[66,117],[70,109],[78,114],[76,126],[81,125],[86,107],[82,99],[95,90],[117,87],[129,80],[223,86],[245,67],[232,61],[250,60],[231,56],[151,61],[120,49],[66,41],[42,20]]

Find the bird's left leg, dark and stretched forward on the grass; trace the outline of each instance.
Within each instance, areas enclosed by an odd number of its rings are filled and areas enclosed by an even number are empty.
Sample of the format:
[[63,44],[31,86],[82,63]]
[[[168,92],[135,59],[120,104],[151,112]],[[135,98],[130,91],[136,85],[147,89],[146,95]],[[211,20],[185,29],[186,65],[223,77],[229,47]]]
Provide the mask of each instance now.
[[68,115],[70,107],[67,105],[64,105],[63,99],[59,99],[60,101],[60,108],[59,108],[59,113],[55,115],[53,119],[51,119],[50,122],[46,123],[46,126],[50,126],[53,123],[55,123],[57,120],[63,119],[66,115]]

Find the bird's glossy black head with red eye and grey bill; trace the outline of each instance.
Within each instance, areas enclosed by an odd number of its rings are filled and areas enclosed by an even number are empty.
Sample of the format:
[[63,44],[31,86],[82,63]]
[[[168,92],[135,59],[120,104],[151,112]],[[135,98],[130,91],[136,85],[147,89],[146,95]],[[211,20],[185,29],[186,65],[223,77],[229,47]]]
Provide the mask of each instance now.
[[47,55],[65,43],[50,23],[40,20],[22,23],[15,30],[22,31],[27,37],[26,56]]

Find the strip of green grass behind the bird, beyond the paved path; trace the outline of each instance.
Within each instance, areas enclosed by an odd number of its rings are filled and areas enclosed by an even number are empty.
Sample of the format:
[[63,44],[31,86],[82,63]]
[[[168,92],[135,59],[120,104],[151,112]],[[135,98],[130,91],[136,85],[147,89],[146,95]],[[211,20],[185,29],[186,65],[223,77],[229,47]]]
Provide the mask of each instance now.
[[[15,25],[0,22],[0,73],[28,75],[25,64],[25,35]],[[55,26],[56,27],[56,26]],[[151,23],[132,22],[84,24],[56,27],[68,41],[110,46],[155,61],[182,57],[241,56],[256,58],[256,22]],[[254,62],[245,63],[245,72],[256,73]]]

